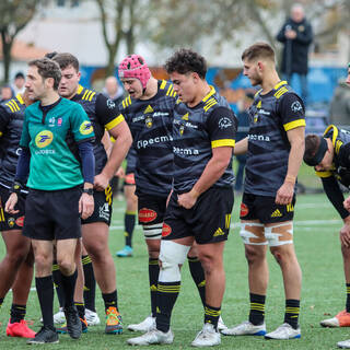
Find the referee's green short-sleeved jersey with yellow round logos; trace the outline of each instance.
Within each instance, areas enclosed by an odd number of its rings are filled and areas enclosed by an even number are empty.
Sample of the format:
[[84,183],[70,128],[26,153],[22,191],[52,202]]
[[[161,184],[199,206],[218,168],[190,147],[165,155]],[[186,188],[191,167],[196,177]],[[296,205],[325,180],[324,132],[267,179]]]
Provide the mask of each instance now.
[[27,186],[40,190],[59,190],[83,183],[81,164],[70,145],[93,141],[94,132],[84,109],[60,98],[49,109],[39,102],[24,113],[22,148],[30,148],[31,167]]

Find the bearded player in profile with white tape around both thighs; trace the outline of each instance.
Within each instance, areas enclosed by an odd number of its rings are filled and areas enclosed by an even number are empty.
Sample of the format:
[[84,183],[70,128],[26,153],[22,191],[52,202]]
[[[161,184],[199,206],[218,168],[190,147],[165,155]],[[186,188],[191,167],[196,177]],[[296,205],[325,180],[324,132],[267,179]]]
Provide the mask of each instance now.
[[[250,312],[248,320],[223,334],[300,338],[302,271],[293,245],[293,214],[296,175],[304,154],[304,105],[288,83],[280,81],[275,52],[268,44],[248,47],[242,60],[244,75],[254,86],[261,86],[248,109],[248,137],[235,147],[235,154],[247,153],[240,217],[248,262]],[[285,313],[283,324],[266,334],[268,247],[282,271]]]

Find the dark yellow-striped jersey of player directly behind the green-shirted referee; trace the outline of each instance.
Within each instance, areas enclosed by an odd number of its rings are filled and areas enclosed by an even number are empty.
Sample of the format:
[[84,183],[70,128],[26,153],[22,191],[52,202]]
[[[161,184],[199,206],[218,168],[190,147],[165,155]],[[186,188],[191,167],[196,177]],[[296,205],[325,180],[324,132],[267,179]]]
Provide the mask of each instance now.
[[101,142],[105,129],[108,131],[124,120],[118,114],[116,104],[102,93],[79,85],[77,94],[71,98],[79,103],[88,114],[95,132],[94,155],[95,174],[100,174],[107,163],[107,154]]

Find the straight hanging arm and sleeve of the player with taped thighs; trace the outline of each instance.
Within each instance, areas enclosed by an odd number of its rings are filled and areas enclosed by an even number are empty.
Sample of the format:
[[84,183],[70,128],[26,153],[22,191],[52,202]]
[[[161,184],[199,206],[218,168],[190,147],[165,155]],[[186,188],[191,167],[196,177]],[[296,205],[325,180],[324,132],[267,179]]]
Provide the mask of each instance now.
[[300,97],[287,94],[280,104],[279,114],[291,145],[288,158],[288,170],[282,186],[276,195],[277,205],[289,205],[294,195],[294,187],[305,149],[305,112]]

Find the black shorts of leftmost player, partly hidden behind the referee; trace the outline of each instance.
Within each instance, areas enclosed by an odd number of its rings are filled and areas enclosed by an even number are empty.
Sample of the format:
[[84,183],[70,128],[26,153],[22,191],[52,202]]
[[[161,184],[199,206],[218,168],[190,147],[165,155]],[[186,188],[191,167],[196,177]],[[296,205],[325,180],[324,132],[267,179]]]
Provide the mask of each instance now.
[[15,206],[20,210],[16,214],[9,214],[4,211],[4,205],[10,197],[9,188],[0,186],[0,231],[22,230],[25,213],[25,198],[26,194],[19,195],[19,201]]

